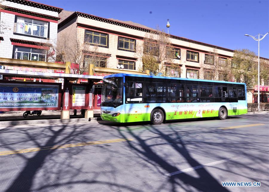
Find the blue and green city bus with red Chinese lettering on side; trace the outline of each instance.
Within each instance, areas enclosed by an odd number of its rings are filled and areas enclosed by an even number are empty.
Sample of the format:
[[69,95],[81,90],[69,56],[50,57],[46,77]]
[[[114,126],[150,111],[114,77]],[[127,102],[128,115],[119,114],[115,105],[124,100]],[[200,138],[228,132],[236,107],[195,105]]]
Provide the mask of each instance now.
[[101,118],[113,122],[218,117],[247,113],[246,84],[112,74],[102,85]]

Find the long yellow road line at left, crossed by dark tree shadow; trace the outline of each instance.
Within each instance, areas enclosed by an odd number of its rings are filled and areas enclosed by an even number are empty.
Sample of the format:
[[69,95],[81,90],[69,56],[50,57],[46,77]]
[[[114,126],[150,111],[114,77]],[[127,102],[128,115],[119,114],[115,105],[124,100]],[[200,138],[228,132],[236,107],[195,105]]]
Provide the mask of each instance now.
[[3,152],[0,152],[0,156],[18,154],[18,153],[36,152],[36,151],[43,151],[43,150],[51,150],[51,149],[62,149],[62,148],[77,147],[77,146],[100,145],[100,144],[105,144],[105,143],[115,143],[115,142],[121,142],[121,141],[133,141],[133,139],[128,139],[128,138],[111,139],[111,140],[106,140],[106,141],[91,141],[91,142],[84,142],[84,143],[72,143],[72,144],[65,144],[65,145],[37,147],[37,148],[29,148],[29,149],[14,150],[14,151],[3,151]]

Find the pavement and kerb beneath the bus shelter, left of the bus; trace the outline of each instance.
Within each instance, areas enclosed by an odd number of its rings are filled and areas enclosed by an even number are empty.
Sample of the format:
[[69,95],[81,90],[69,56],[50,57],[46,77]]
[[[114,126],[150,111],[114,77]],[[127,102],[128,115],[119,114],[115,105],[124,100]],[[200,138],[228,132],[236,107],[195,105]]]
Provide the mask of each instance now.
[[[22,114],[25,111],[7,111],[0,113],[0,125],[19,125],[19,124],[33,124],[33,123],[58,123],[58,122],[77,122],[77,121],[90,121],[81,115],[80,110],[77,110],[77,115],[74,116],[74,110],[70,110],[70,119],[62,120],[61,111],[42,111],[40,116],[28,115],[24,118]],[[100,110],[94,110],[94,118],[100,118]]]

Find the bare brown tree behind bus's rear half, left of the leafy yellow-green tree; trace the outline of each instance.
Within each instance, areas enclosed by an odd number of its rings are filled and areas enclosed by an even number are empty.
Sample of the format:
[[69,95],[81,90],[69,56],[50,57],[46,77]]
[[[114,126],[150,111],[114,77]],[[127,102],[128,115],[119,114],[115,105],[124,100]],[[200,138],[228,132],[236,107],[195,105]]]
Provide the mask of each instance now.
[[207,80],[233,80],[230,59],[221,57],[216,49],[205,54],[205,60],[202,63],[202,73],[204,74],[204,79]]

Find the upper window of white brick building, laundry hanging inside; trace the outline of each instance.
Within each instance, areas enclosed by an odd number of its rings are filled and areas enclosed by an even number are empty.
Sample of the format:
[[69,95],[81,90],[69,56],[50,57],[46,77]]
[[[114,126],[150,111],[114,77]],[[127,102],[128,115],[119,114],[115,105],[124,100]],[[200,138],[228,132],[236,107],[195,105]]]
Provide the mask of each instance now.
[[36,19],[17,17],[17,33],[33,35],[38,37],[48,37],[48,22]]

